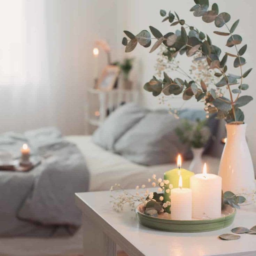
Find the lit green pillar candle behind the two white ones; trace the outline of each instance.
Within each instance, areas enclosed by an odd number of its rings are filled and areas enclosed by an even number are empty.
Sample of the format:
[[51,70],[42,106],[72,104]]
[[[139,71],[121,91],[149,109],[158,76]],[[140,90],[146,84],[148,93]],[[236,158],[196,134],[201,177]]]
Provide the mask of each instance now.
[[[190,184],[189,184],[190,177],[195,175],[195,173],[188,171],[186,169],[180,168],[180,166],[181,166],[180,155],[178,155],[177,165],[179,168],[175,168],[175,169],[172,169],[172,170],[164,173],[164,179],[169,180],[170,181],[169,184],[172,184],[173,188],[177,188],[177,187],[179,187],[179,176],[181,175],[182,180],[183,180],[182,187],[189,188],[190,187]],[[170,189],[169,193],[166,193],[166,189],[168,189],[168,188],[164,189],[164,202],[170,201],[170,195],[171,195],[171,189]],[[165,211],[170,213],[170,207],[166,207]]]

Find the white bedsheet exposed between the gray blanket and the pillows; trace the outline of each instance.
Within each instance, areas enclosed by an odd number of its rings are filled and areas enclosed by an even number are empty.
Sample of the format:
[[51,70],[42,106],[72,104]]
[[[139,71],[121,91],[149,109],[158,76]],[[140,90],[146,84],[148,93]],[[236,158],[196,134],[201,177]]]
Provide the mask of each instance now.
[[[90,172],[90,191],[108,190],[115,183],[123,188],[135,188],[136,185],[148,184],[148,178],[152,174],[157,177],[163,177],[167,170],[176,168],[175,163],[144,166],[139,165],[124,157],[114,154],[110,151],[95,145],[91,136],[74,135],[67,136],[65,139],[76,143],[83,153],[87,167]],[[217,173],[219,159],[213,157],[204,157],[208,164],[209,173]],[[183,163],[183,168],[188,169],[190,161]]]

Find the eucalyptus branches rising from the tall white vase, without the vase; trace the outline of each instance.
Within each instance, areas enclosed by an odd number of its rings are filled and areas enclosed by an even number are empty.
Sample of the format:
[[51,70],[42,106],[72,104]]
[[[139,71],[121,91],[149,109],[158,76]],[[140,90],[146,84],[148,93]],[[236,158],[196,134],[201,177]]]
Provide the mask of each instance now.
[[[163,55],[168,58],[168,61],[172,61],[178,54],[186,53],[188,57],[191,57],[200,52],[201,56],[196,57],[194,60],[206,60],[209,65],[208,68],[215,70],[214,75],[220,77],[219,82],[215,84],[216,88],[210,88],[203,81],[199,84],[193,80],[186,81],[180,78],[170,78],[166,73],[164,73],[163,79],[153,77],[143,88],[148,92],[152,92],[154,96],[163,93],[168,96],[181,94],[183,100],[195,98],[197,101],[204,102],[205,111],[217,112],[217,118],[224,118],[228,123],[243,121],[244,114],[240,107],[249,103],[252,97],[240,96],[243,91],[249,88],[247,84],[242,84],[242,78],[246,78],[252,69],[250,68],[246,72],[242,72],[242,66],[246,64],[246,60],[242,55],[245,54],[247,45],[245,44],[238,51],[236,45],[241,44],[242,37],[239,34],[233,34],[238,27],[239,19],[229,29],[227,23],[231,20],[231,16],[226,12],[219,13],[217,3],[212,4],[209,9],[209,0],[194,0],[194,2],[195,5],[190,9],[193,15],[195,17],[202,17],[203,22],[214,22],[217,28],[226,28],[226,31],[214,31],[214,33],[219,36],[229,36],[226,46],[234,49],[235,53],[225,51],[223,56],[221,56],[221,49],[212,44],[209,33],[204,33],[195,28],[195,26],[186,24],[185,19],[181,18],[175,11],[173,13],[169,11],[167,14],[165,10],[160,10],[160,15],[163,17],[162,22],[169,22],[170,28],[176,25],[181,25],[181,28],[175,32],[170,31],[163,35],[158,29],[149,26],[150,32],[156,40],[150,49],[150,53],[155,51],[160,45],[164,45],[165,51]],[[147,30],[142,30],[136,36],[129,31],[124,31],[124,33],[129,38],[124,37],[122,40],[122,44],[126,46],[125,52],[133,51],[138,42],[147,48],[151,45],[151,40],[153,39]],[[239,67],[239,76],[233,74],[226,75],[227,56],[234,57],[233,65],[235,68]],[[239,82],[238,79],[240,79]],[[237,85],[237,87],[232,87],[231,89],[231,85]],[[219,93],[220,87],[228,88],[230,99],[225,98],[222,93]],[[232,94],[234,94],[233,97]]]

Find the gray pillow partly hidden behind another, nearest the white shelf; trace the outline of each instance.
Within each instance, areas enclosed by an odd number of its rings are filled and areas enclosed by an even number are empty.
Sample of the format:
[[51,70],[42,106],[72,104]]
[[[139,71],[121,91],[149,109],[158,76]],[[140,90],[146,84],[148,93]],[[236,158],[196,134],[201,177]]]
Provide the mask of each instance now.
[[135,103],[124,104],[111,113],[94,132],[93,142],[104,149],[113,151],[115,142],[147,113],[147,109]]

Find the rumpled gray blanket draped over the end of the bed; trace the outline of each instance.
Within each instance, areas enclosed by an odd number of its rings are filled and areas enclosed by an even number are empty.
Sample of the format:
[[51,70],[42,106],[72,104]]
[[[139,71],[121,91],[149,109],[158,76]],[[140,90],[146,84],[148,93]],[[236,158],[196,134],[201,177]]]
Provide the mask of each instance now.
[[41,164],[26,173],[0,171],[0,236],[74,232],[81,222],[74,193],[89,184],[82,153],[55,128],[1,134],[0,150],[18,157],[25,142]]

